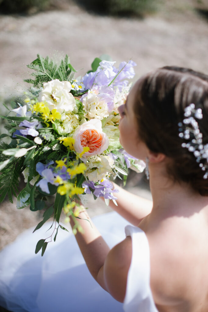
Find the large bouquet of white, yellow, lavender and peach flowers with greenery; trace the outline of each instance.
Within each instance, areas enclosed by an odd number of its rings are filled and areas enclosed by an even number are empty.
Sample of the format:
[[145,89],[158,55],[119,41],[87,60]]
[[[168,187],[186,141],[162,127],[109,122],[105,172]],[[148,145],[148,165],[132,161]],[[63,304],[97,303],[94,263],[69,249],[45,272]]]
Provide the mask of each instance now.
[[[96,58],[92,70],[75,78],[68,56],[59,63],[37,55],[27,67],[32,69],[30,89],[24,104],[11,103],[5,128],[10,144],[0,146],[0,202],[6,195],[17,208],[30,205],[32,211],[45,209],[39,229],[54,217],[54,241],[63,211],[73,212],[76,197],[92,193],[116,204],[111,179],[126,181],[128,168],[142,171],[144,163],[127,154],[119,142],[118,106],[125,103],[129,79],[134,76],[133,61],[115,62]],[[25,188],[18,191],[23,173]],[[75,223],[73,232],[82,230]],[[42,255],[52,235],[38,241]]]

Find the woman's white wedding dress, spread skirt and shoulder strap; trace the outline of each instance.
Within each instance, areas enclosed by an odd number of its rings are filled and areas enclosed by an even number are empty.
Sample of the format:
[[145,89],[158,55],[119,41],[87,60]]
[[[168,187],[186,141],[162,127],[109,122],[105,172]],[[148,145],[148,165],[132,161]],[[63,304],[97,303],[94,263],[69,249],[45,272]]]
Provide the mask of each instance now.
[[[128,222],[116,212],[93,222],[110,247],[125,238]],[[0,252],[0,307],[14,312],[157,312],[149,285],[149,245],[141,229],[125,229],[132,237],[132,261],[122,304],[92,278],[73,234],[60,230],[44,256],[35,255],[49,227],[47,222],[34,233],[26,230]]]

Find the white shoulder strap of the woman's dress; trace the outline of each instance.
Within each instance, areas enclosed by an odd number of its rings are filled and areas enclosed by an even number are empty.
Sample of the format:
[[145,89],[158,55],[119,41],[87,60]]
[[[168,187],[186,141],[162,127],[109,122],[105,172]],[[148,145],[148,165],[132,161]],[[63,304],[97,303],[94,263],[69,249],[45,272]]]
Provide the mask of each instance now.
[[144,231],[127,225],[126,236],[131,236],[132,257],[127,277],[125,312],[158,312],[150,288],[150,250]]

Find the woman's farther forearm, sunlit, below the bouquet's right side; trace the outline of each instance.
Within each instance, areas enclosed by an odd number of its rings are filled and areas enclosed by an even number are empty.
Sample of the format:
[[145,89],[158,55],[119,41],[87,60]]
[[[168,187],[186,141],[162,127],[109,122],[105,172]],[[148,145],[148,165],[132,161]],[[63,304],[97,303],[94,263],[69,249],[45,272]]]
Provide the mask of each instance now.
[[116,202],[118,206],[110,200],[110,207],[131,222],[131,224],[138,226],[141,220],[150,214],[152,201],[126,191],[116,183],[113,183],[113,186],[114,189],[117,188],[119,190],[119,193],[114,193],[114,196],[117,197]]

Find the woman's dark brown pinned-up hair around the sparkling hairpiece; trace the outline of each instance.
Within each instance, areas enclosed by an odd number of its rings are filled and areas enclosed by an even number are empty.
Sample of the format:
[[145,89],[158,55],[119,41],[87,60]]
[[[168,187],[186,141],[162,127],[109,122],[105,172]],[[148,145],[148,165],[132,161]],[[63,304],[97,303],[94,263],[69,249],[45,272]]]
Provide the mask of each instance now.
[[134,112],[139,136],[147,147],[172,159],[168,174],[208,196],[208,179],[203,179],[194,154],[181,147],[187,141],[179,137],[178,123],[191,103],[202,109],[203,118],[197,122],[203,144],[208,144],[208,76],[202,73],[166,66],[147,74],[138,83]]

